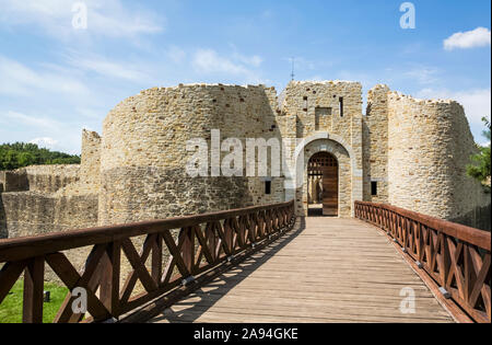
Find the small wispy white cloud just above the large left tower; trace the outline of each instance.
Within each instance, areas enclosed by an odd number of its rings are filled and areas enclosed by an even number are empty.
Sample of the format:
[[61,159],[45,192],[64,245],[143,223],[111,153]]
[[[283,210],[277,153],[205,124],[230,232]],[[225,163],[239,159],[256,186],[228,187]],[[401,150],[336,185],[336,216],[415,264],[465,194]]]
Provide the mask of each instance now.
[[244,77],[247,82],[258,82],[258,73],[254,70],[261,65],[258,56],[245,57],[233,54],[231,58],[220,56],[213,49],[199,49],[194,57],[192,66],[201,73],[225,73]]

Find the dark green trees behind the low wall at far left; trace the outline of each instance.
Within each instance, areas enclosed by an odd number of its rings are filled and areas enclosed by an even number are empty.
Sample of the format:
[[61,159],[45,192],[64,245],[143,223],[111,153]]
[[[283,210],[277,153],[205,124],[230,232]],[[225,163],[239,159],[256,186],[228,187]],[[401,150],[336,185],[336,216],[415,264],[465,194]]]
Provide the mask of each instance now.
[[45,164],[80,164],[80,157],[43,149],[35,143],[0,145],[0,170]]

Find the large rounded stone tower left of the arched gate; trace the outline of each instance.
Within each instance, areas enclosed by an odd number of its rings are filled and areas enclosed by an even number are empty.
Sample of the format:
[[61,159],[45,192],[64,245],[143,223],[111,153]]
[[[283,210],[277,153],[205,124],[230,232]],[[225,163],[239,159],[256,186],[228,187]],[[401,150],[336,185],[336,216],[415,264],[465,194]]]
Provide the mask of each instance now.
[[186,143],[200,138],[210,148],[211,129],[243,145],[279,138],[276,104],[274,89],[199,84],[154,88],[118,104],[104,120],[99,225],[268,203],[258,177],[190,177],[185,166],[196,151]]

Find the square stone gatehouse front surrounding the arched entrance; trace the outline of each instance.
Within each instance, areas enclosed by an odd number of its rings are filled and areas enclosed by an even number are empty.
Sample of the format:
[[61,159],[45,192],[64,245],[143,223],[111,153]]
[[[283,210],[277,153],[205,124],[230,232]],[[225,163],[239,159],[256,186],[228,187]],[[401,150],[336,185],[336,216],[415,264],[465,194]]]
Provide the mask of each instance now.
[[[280,114],[278,122],[283,139],[290,139],[288,146],[289,157],[286,164],[291,171],[296,171],[298,157],[295,151],[303,150],[312,142],[328,140],[325,146],[339,145],[350,157],[350,164],[345,165],[340,174],[349,176],[351,189],[349,195],[340,195],[341,214],[352,214],[351,202],[362,199],[362,85],[349,81],[323,82],[290,82],[279,97]],[[341,102],[342,101],[342,106]],[[318,142],[319,143],[319,142]],[[316,147],[316,146],[315,146]],[[316,153],[316,152],[313,152]],[[303,153],[305,154],[305,153]],[[309,157],[305,154],[304,163]],[[305,169],[302,172],[305,174]],[[303,179],[304,186],[298,186],[289,194],[294,181],[288,181],[285,199],[295,198],[297,216],[307,215],[307,179]],[[342,188],[343,189],[343,188]]]

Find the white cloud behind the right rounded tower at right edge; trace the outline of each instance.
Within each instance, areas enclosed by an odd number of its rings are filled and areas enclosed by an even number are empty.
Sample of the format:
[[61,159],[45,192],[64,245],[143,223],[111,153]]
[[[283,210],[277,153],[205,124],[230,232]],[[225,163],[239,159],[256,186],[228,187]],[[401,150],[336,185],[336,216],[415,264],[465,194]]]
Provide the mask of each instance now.
[[[465,107],[470,125],[481,128],[482,117],[491,114],[491,89],[476,89],[467,91],[448,91],[424,89],[418,93],[423,99],[455,100]],[[477,138],[478,139],[478,138]]]

